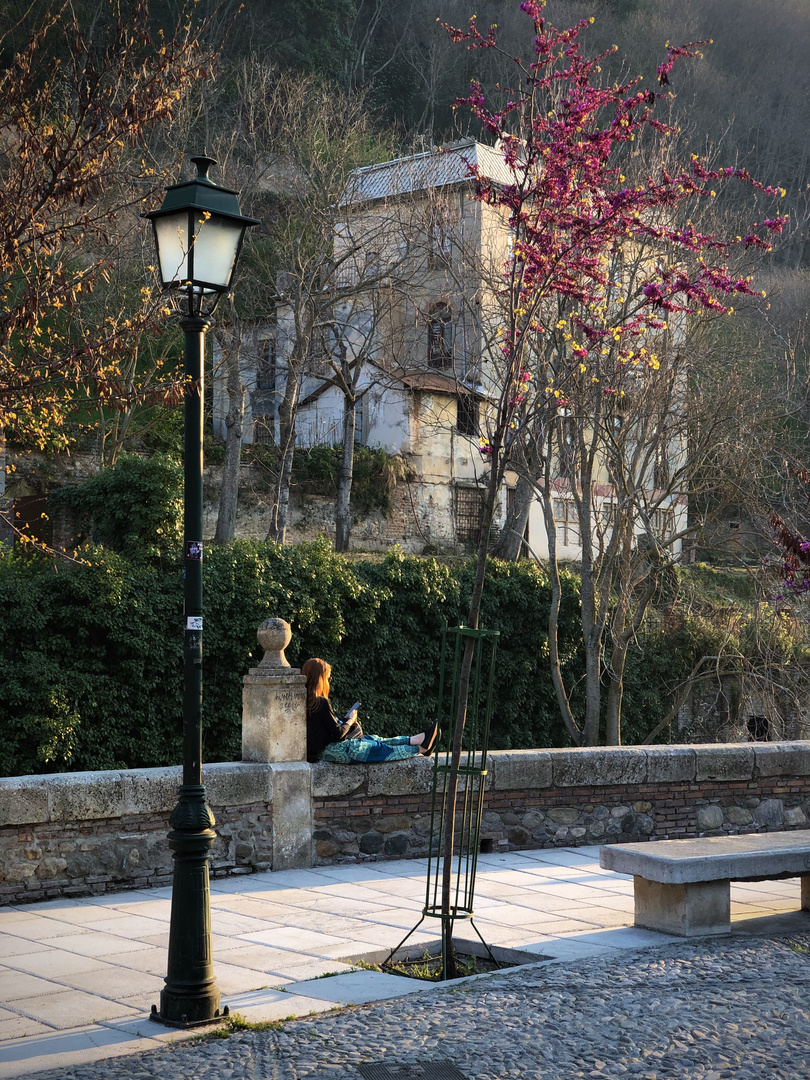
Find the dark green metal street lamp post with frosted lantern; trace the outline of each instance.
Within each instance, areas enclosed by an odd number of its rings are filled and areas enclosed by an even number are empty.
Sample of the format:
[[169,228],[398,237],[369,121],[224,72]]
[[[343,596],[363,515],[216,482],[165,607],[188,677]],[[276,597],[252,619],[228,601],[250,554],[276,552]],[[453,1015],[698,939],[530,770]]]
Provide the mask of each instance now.
[[160,210],[144,216],[154,229],[164,289],[178,298],[186,337],[184,426],[183,785],[172,812],[172,919],[160,1010],[172,1027],[208,1024],[219,1015],[211,941],[208,856],[216,838],[202,783],[202,476],[203,348],[219,297],[230,289],[245,230],[235,191],[208,179],[212,158],[191,159],[193,180],[166,189]]

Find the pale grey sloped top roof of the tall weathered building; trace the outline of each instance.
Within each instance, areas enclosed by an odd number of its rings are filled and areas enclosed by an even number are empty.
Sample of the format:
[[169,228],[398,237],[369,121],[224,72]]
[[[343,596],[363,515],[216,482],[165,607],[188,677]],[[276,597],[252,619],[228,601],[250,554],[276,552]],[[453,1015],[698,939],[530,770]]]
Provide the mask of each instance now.
[[464,139],[444,150],[429,150],[355,170],[349,176],[341,204],[469,183],[470,165],[477,166],[482,175],[498,184],[514,183],[514,175],[500,151],[474,139]]

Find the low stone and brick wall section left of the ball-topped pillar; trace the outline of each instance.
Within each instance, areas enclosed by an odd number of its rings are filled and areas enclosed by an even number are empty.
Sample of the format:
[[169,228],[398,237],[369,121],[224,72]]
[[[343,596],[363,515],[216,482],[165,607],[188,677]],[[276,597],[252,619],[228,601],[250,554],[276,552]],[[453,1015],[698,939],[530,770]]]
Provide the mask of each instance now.
[[[133,769],[0,781],[0,904],[171,882],[180,779],[179,769]],[[211,766],[204,779],[216,816],[211,875],[269,868],[267,770]]]

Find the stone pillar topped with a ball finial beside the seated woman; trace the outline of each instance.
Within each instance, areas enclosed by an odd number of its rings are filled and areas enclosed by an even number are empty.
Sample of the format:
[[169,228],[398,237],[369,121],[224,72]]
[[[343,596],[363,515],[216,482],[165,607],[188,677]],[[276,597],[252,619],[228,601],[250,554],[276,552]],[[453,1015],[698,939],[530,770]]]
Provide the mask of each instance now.
[[274,870],[312,865],[312,783],[307,762],[307,683],[284,656],[292,633],[267,619],[257,638],[265,650],[242,689],[242,760],[266,762],[273,791]]

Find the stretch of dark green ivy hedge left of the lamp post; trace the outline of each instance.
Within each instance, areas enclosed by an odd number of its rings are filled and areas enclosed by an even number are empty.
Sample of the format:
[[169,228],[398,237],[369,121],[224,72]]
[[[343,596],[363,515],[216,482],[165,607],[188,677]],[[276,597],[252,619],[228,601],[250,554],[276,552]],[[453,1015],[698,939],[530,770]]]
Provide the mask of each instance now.
[[84,554],[0,554],[4,775],[178,760],[181,570]]

